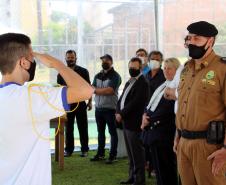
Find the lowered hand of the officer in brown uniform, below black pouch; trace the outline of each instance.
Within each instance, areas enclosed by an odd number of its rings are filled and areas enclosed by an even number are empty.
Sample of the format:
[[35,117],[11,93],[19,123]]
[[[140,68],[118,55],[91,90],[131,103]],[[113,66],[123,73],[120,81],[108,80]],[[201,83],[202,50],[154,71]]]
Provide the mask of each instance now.
[[216,176],[224,167],[224,164],[226,164],[226,149],[221,148],[215,152],[213,152],[207,160],[213,159],[212,163],[212,173],[214,176]]

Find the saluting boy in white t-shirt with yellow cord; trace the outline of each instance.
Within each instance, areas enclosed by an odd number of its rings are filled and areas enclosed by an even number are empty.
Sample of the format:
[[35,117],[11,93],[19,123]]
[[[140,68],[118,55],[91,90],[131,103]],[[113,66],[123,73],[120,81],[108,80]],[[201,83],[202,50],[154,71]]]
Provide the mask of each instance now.
[[[3,34],[0,43],[0,184],[50,185],[50,143],[41,136],[49,137],[50,119],[89,99],[93,88],[61,61],[33,53],[26,35]],[[33,57],[56,69],[67,87],[25,86],[35,75]]]

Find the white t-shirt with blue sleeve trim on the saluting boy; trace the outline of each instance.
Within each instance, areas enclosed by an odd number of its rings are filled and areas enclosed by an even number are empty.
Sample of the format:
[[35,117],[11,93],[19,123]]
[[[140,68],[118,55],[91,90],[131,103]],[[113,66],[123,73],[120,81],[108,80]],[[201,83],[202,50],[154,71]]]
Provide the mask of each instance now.
[[51,185],[50,142],[35,130],[49,138],[49,120],[69,110],[66,87],[32,87],[30,95],[27,86],[0,85],[0,185]]

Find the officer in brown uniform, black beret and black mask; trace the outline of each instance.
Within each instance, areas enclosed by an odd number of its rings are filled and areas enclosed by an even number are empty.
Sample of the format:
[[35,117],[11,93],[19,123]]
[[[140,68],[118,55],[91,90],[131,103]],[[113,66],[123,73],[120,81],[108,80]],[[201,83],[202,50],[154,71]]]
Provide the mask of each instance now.
[[174,151],[183,185],[224,185],[226,61],[215,54],[217,28],[206,21],[187,27],[189,60],[178,87]]

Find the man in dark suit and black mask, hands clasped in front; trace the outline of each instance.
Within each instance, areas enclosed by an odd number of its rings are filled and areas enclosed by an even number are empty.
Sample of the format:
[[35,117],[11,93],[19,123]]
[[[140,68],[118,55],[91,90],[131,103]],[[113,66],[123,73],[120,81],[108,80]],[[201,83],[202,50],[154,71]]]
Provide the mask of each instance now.
[[145,184],[145,154],[140,140],[142,114],[149,98],[148,82],[141,73],[142,61],[132,58],[129,62],[131,78],[126,82],[116,109],[116,120],[123,125],[129,157],[129,177],[120,184]]

